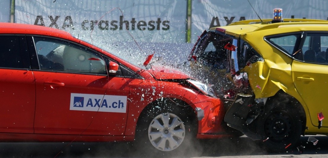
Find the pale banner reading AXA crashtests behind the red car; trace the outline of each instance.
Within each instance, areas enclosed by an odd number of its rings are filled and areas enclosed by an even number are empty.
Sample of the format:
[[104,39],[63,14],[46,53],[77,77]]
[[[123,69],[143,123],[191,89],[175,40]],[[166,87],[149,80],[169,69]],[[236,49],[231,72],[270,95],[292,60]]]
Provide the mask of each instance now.
[[90,42],[131,42],[129,31],[138,42],[181,43],[186,10],[186,0],[16,0],[15,22],[65,30]]

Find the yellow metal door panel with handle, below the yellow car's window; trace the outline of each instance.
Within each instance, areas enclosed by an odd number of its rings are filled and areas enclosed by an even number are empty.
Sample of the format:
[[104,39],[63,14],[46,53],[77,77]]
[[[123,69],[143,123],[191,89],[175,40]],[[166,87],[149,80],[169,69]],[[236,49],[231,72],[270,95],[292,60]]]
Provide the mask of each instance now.
[[[318,113],[328,116],[328,65],[304,63],[294,60],[292,77],[295,88],[307,105],[311,122],[318,126]],[[322,121],[328,127],[328,121]]]

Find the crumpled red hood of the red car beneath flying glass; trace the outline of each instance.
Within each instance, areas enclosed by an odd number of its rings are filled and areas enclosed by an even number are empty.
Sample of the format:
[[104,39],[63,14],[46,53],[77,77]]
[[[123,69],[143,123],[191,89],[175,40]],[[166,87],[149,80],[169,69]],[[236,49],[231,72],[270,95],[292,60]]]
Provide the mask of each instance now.
[[153,70],[146,70],[154,76],[155,79],[189,79],[190,77],[178,70],[164,68],[164,67],[154,67]]

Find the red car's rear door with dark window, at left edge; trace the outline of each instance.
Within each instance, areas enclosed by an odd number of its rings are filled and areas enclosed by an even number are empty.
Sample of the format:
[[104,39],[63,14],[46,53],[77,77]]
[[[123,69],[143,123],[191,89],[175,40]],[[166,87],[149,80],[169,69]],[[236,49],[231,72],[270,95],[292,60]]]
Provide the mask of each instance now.
[[33,133],[35,82],[25,35],[0,41],[0,132]]

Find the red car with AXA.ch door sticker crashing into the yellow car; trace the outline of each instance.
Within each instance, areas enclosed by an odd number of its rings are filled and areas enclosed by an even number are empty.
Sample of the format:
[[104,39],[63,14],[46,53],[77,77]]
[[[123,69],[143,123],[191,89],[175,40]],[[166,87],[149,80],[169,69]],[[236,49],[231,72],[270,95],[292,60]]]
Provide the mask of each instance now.
[[0,23],[0,41],[1,142],[135,139],[171,151],[228,136],[223,103],[183,73],[145,70],[42,26]]

